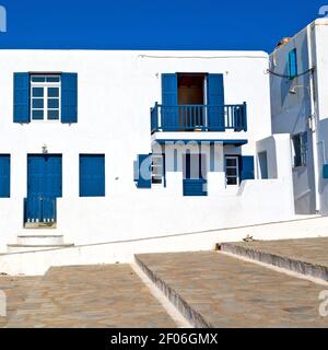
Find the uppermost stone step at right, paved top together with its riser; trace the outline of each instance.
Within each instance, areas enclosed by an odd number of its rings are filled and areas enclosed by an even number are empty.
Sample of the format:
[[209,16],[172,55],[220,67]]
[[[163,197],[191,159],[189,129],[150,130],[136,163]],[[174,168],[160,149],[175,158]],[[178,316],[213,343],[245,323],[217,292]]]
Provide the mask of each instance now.
[[328,281],[328,237],[218,244],[220,250]]

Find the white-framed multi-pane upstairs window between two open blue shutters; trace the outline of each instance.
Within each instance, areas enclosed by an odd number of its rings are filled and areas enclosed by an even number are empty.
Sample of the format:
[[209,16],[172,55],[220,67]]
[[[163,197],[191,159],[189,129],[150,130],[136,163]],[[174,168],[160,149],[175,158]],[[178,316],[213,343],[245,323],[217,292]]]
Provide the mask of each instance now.
[[31,75],[31,120],[60,121],[60,74]]

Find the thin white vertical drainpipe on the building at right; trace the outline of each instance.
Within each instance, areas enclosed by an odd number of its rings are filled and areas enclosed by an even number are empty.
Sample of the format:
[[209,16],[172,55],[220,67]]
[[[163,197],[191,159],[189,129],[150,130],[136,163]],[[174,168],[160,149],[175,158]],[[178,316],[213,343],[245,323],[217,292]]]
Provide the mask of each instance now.
[[[312,25],[307,26],[307,45],[308,45],[308,66],[313,65],[313,47],[312,47]],[[309,103],[311,103],[311,130],[312,130],[312,148],[314,158],[314,177],[315,177],[315,202],[316,213],[320,212],[320,196],[319,196],[319,160],[318,160],[318,116],[315,106],[315,90],[314,90],[314,72],[309,74]]]

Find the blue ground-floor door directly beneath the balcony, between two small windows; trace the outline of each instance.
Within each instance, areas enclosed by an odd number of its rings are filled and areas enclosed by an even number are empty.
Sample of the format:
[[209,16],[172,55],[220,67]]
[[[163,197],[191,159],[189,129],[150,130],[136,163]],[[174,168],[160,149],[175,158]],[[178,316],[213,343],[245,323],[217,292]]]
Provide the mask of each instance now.
[[184,196],[207,196],[206,154],[184,155]]

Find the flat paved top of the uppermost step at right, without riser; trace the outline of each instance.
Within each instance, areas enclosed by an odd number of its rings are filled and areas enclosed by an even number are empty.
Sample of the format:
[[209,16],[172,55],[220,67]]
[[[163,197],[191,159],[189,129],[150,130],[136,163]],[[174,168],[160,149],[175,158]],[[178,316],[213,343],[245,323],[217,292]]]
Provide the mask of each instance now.
[[328,237],[230,244],[328,267]]

